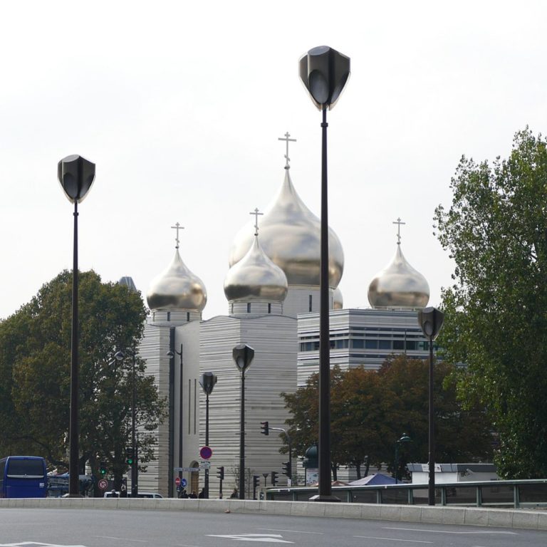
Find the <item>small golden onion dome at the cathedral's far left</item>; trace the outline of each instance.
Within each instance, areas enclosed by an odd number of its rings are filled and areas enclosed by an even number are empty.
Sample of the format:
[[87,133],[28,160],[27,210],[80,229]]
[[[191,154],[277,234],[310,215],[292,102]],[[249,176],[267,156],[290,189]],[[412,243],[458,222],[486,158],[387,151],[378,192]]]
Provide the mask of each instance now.
[[189,271],[177,249],[171,265],[150,283],[146,300],[151,310],[203,311],[207,291],[202,280]]

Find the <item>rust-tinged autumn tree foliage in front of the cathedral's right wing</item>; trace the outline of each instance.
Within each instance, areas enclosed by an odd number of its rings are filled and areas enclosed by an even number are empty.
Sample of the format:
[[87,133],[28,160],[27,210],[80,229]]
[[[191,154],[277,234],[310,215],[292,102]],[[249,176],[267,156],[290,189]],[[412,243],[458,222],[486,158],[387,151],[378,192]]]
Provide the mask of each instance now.
[[[434,407],[438,462],[469,462],[491,456],[490,424],[479,407],[464,409],[456,397],[454,367],[437,363]],[[369,464],[395,463],[395,442],[406,433],[412,442],[401,449],[399,472],[407,462],[427,462],[429,364],[400,355],[380,370],[333,368],[330,395],[333,478],[341,465],[354,466],[358,477]],[[286,423],[296,454],[318,439],[318,375],[293,394],[283,394],[291,418]]]

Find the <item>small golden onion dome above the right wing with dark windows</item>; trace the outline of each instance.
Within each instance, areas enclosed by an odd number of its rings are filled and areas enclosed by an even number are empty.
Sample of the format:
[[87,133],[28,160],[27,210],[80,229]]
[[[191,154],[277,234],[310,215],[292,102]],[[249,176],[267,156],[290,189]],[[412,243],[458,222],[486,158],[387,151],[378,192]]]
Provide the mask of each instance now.
[[368,301],[373,308],[424,308],[429,301],[429,284],[422,274],[408,264],[397,243],[390,264],[377,273],[368,287]]

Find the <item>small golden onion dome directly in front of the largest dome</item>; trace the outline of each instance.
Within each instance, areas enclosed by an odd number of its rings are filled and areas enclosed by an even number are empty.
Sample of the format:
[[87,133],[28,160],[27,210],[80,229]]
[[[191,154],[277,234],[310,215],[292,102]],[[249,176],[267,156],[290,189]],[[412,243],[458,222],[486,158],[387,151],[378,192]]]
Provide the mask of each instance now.
[[251,249],[226,274],[226,298],[229,302],[283,302],[287,291],[285,273],[264,254],[259,238],[255,235]]

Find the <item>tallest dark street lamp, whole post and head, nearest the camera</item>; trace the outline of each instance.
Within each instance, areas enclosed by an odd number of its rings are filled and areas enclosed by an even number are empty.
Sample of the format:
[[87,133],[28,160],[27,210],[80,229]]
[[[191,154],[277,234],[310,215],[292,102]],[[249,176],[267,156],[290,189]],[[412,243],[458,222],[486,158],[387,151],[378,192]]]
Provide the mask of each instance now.
[[319,287],[319,493],[314,501],[340,501],[330,482],[330,328],[328,317],[327,108],[332,109],[350,75],[350,58],[333,48],[313,48],[300,61],[300,77],[323,111],[321,146],[321,276]]

